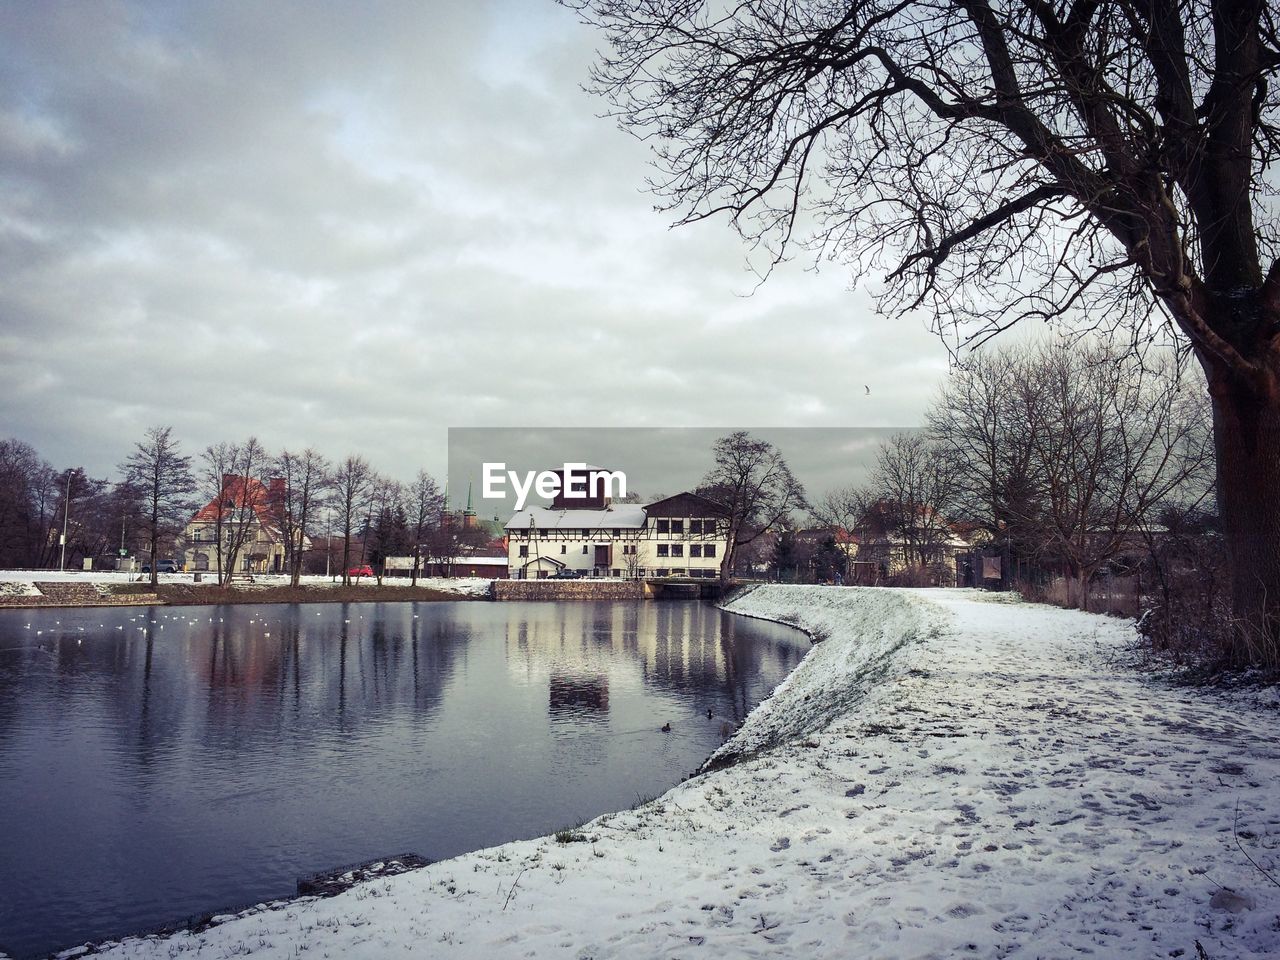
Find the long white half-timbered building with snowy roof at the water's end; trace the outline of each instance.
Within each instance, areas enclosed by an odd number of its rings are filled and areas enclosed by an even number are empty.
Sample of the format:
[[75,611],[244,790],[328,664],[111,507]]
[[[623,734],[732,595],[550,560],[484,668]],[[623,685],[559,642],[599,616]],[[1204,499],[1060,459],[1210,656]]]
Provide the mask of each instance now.
[[719,507],[695,493],[649,504],[613,503],[603,492],[556,495],[507,521],[511,576],[716,577],[724,557]]

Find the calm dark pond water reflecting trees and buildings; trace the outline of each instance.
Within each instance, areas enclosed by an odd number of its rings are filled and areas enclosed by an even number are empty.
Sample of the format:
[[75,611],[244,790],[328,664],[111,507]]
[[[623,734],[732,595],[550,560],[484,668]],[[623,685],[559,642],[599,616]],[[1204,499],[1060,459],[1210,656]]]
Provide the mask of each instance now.
[[695,603],[3,611],[0,948],[630,806],[808,648]]

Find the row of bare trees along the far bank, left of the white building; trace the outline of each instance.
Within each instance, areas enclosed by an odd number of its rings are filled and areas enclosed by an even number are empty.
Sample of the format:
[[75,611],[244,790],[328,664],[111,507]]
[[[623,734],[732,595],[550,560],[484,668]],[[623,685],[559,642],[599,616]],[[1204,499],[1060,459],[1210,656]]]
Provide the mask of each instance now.
[[[271,453],[251,436],[212,444],[193,461],[170,428],[155,426],[119,472],[111,483],[81,467],[56,471],[29,444],[0,440],[0,566],[78,566],[86,557],[124,552],[127,544],[156,559],[201,508],[220,582],[229,582],[264,525],[278,531],[294,586],[321,530],[330,549],[330,524],[342,536],[343,582],[353,563],[380,566],[388,556],[411,554],[416,584],[424,563],[449,562],[485,539],[453,521],[426,471],[403,484],[360,456],[332,463],[310,447]],[[152,581],[156,573],[151,563]]]

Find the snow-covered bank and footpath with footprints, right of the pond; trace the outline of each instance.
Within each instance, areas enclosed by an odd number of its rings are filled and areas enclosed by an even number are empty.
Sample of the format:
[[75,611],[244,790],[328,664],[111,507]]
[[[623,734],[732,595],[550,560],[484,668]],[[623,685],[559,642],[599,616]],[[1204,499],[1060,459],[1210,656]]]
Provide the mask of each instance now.
[[559,840],[109,955],[1280,951],[1274,692],[1169,686],[1128,666],[1126,622],[964,591],[769,585],[731,609],[822,637],[722,750],[739,763]]

